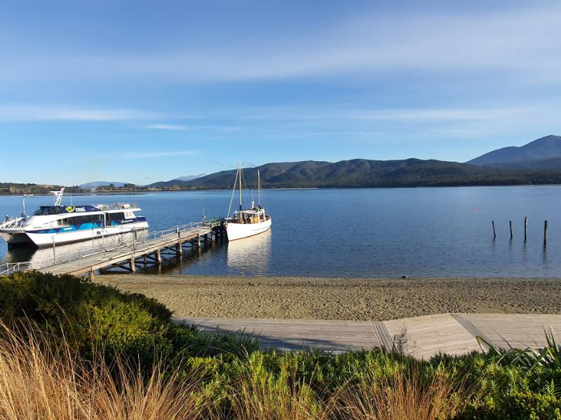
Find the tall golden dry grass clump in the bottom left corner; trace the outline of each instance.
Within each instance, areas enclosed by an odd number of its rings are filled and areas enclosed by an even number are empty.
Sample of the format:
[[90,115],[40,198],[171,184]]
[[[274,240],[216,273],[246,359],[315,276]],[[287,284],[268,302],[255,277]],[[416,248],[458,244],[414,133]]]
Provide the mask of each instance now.
[[[0,419],[200,419],[196,381],[179,381],[156,367],[142,377],[135,365],[102,354],[86,361],[66,340],[53,346],[45,332],[25,335],[0,323]],[[208,416],[205,416],[208,418]]]

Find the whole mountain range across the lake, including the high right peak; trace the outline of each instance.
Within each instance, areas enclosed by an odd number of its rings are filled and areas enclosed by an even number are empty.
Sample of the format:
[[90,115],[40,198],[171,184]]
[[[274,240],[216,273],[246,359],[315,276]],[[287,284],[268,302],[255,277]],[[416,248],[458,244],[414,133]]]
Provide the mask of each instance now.
[[[356,188],[405,186],[527,185],[561,183],[561,137],[546,136],[526,144],[500,148],[466,163],[442,160],[366,160],[340,162],[306,160],[268,163],[245,168],[248,188],[257,186],[257,169],[264,188]],[[180,176],[151,183],[148,188],[225,189],[232,188],[236,169]],[[95,188],[110,183],[83,184]],[[123,183],[114,183],[123,186]],[[92,187],[90,187],[92,186]]]

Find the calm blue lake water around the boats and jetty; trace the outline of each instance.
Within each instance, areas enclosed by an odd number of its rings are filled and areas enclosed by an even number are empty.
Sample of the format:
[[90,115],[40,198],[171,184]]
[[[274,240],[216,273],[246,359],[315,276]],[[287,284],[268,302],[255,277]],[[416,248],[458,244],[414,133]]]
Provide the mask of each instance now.
[[[250,195],[250,194],[249,194]],[[197,191],[72,197],[72,204],[134,201],[151,230],[227,213],[231,192]],[[28,212],[52,197],[29,197]],[[65,197],[70,204],[70,197]],[[184,253],[168,274],[279,276],[561,276],[561,187],[266,190],[271,232]],[[234,207],[236,200],[234,200]],[[19,214],[21,197],[0,197]],[[528,216],[528,239],[523,219]],[[491,221],[496,224],[493,239]],[[514,225],[510,239],[508,221]],[[543,221],[548,246],[543,248]],[[88,244],[81,244],[87,247]],[[60,247],[59,255],[65,253]],[[49,260],[52,251],[8,251],[0,261]]]

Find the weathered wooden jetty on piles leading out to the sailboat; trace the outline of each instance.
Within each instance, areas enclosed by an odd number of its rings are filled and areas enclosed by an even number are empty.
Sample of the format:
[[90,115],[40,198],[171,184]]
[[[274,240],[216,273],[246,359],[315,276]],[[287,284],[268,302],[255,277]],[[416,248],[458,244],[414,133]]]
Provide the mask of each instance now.
[[94,253],[76,255],[65,262],[58,262],[39,269],[51,274],[89,274],[91,278],[96,270],[111,268],[127,269],[135,272],[137,265],[161,264],[165,252],[182,254],[184,246],[201,247],[201,244],[214,243],[224,237],[222,221],[189,223],[167,230],[150,232],[140,239],[133,239],[128,244],[104,249]]

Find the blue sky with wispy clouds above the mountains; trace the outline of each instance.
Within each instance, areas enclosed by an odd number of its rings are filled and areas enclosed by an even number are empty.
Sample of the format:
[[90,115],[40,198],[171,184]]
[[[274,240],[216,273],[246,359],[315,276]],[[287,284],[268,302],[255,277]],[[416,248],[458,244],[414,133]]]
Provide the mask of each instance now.
[[561,134],[560,21],[558,1],[4,1],[0,181],[464,162]]

